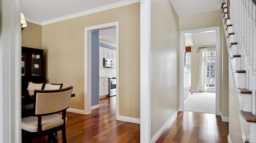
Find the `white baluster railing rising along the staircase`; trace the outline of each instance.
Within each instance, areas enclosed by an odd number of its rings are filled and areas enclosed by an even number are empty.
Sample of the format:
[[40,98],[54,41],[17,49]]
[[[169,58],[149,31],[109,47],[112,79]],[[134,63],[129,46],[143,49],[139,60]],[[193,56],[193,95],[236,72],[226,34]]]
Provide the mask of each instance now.
[[252,114],[256,114],[256,0],[229,0],[229,16],[241,55],[241,69],[246,71],[246,89],[252,91]]

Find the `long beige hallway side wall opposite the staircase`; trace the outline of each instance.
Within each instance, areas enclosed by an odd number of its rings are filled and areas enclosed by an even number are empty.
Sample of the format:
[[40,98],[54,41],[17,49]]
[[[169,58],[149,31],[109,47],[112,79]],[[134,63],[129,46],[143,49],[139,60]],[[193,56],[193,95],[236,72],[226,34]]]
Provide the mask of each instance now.
[[151,0],[151,138],[179,108],[179,18],[169,0]]

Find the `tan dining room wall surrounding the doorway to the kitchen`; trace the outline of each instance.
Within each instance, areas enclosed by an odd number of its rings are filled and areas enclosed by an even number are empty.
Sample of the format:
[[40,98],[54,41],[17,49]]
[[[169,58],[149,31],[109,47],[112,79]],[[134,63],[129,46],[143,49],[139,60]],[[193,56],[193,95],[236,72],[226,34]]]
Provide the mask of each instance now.
[[42,27],[47,79],[74,86],[70,108],[84,110],[84,27],[119,21],[119,114],[140,118],[140,3]]

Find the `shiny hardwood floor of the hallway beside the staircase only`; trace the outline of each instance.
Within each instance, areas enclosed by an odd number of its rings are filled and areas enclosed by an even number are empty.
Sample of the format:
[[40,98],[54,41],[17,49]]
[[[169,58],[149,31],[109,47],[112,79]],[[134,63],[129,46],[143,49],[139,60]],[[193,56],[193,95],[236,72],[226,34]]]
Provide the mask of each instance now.
[[228,122],[215,114],[179,112],[156,143],[228,143]]

